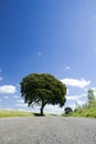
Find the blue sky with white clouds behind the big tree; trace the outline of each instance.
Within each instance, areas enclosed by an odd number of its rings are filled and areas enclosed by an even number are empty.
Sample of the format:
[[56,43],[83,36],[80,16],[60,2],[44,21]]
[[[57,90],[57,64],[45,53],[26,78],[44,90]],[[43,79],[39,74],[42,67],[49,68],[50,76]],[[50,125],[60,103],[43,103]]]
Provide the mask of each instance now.
[[[95,0],[0,1],[0,109],[26,109],[20,82],[29,73],[55,75],[67,85],[66,105],[96,93]],[[63,109],[46,106],[45,112]]]

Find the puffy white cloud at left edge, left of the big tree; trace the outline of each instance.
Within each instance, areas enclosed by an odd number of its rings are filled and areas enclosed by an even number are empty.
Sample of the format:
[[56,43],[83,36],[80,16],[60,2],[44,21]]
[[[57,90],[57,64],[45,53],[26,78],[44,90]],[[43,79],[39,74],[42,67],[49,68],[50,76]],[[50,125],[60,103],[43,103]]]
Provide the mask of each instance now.
[[0,86],[0,93],[15,93],[17,89],[13,85],[2,85]]

